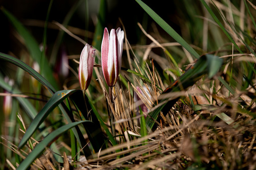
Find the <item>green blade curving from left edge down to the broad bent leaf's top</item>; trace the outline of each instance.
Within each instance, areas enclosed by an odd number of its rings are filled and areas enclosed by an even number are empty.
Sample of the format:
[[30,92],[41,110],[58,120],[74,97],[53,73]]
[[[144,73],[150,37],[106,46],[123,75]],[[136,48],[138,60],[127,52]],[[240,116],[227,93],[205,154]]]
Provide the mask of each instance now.
[[22,68],[28,74],[30,74],[35,79],[37,79],[42,85],[44,85],[50,91],[50,93],[52,93],[52,94],[55,93],[55,88],[45,79],[45,77],[40,75],[36,70],[34,70],[30,66],[28,66],[23,61],[15,58],[13,56],[1,53],[1,52],[0,52],[0,59],[6,60],[6,61],[18,66],[19,68]]

